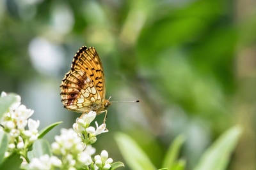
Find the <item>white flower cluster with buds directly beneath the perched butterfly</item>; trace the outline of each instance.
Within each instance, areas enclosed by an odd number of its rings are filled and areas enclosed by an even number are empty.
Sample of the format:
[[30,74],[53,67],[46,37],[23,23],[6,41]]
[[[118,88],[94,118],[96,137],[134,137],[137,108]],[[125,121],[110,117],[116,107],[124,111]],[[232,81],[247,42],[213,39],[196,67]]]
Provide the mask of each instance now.
[[60,136],[55,136],[51,145],[54,156],[43,155],[33,159],[29,169],[110,169],[113,160],[108,159],[106,150],[95,156],[94,161],[92,158],[95,148],[91,144],[95,143],[97,135],[108,132],[105,124],[98,126],[95,122],[96,129],[90,126],[95,117],[95,111],[84,113],[81,118],[77,118],[73,129],[61,129]]

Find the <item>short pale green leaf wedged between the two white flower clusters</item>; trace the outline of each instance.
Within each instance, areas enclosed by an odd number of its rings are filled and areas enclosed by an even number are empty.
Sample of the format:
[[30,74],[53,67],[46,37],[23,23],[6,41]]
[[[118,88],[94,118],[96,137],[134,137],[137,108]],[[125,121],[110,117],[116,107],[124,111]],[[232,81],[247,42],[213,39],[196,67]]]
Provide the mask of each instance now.
[[29,160],[39,158],[42,155],[52,155],[51,146],[45,139],[38,139],[33,143],[32,151],[28,154]]

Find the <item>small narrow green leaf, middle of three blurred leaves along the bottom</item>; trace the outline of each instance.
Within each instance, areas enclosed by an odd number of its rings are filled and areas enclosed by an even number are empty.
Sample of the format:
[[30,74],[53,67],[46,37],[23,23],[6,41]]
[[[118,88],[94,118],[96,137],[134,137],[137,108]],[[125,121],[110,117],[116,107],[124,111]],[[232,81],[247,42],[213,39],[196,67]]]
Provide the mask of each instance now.
[[170,145],[164,157],[162,167],[169,167],[170,169],[173,168],[173,164],[175,160],[178,159],[180,147],[183,145],[184,141],[185,141],[185,138],[183,135],[179,135],[177,138],[174,139],[172,145]]

